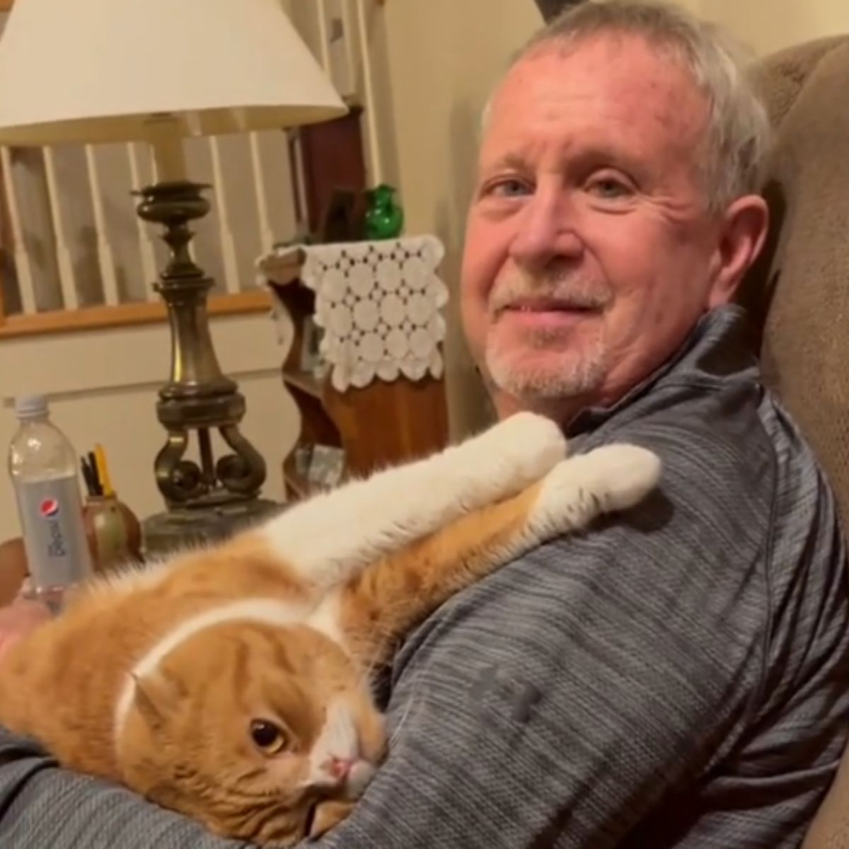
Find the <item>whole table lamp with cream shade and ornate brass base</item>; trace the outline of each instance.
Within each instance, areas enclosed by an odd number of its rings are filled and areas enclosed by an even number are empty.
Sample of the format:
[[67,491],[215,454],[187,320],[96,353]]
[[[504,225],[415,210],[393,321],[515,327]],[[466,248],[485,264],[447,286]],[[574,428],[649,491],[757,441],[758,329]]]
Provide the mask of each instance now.
[[[155,290],[168,310],[171,374],[156,405],[166,510],[144,523],[149,553],[225,536],[277,507],[261,498],[266,464],[239,432],[245,398],[212,346],[212,280],[188,250],[210,187],[188,179],[183,138],[345,112],[280,0],[15,0],[0,37],[0,143],[141,141],[153,155],[156,182],[134,194],[170,252]],[[215,430],[232,451],[217,461]],[[200,463],[186,457],[192,432]]]

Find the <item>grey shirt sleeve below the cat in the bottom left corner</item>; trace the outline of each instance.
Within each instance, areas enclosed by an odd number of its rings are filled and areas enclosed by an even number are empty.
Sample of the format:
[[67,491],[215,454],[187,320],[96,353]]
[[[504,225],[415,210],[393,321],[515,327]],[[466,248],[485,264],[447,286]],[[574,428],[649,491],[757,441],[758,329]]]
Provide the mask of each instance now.
[[59,769],[0,731],[0,846],[15,849],[245,849],[124,788]]

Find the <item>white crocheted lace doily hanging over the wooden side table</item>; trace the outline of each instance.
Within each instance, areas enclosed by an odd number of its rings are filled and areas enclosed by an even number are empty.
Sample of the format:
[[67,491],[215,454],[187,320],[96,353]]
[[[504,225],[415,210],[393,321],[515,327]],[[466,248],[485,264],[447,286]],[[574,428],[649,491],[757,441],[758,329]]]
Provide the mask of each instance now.
[[[445,250],[434,236],[300,245],[301,280],[316,293],[319,347],[337,391],[375,377],[441,377],[441,309],[447,286],[436,274]],[[266,273],[272,263],[263,263]],[[269,274],[273,278],[273,272]],[[282,282],[282,281],[281,281]]]

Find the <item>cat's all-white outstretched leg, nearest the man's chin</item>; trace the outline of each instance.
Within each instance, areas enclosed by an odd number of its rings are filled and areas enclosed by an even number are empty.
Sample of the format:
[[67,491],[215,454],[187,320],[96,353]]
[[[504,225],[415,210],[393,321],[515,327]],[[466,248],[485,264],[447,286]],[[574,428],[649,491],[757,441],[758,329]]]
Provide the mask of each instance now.
[[316,588],[356,575],[475,509],[509,498],[565,457],[559,425],[517,413],[479,436],[296,505],[261,533]]

